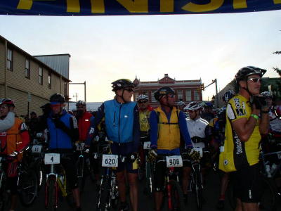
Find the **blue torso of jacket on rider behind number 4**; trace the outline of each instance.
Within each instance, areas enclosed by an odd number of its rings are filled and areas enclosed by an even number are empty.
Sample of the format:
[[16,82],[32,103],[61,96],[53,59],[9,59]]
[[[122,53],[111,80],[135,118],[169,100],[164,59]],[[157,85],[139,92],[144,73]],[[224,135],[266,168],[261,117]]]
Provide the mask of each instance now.
[[[65,124],[68,129],[72,129],[71,121],[73,120],[72,115],[63,110],[63,115],[60,116],[59,120]],[[50,149],[72,149],[72,137],[62,129],[55,127],[53,122],[52,113],[47,119],[48,131],[50,133],[49,148]]]

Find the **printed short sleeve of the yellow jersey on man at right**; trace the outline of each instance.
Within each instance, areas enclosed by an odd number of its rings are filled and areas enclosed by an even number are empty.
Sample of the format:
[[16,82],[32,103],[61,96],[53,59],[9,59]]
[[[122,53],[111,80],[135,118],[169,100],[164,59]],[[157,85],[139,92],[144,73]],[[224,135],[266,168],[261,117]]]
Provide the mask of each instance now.
[[244,101],[240,98],[231,98],[226,107],[226,115],[230,121],[247,118],[247,110]]

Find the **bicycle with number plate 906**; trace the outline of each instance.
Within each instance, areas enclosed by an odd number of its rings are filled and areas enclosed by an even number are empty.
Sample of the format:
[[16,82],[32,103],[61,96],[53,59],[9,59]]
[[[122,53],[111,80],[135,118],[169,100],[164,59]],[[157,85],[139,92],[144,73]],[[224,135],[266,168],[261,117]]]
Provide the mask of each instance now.
[[166,172],[164,175],[166,194],[164,194],[164,196],[166,196],[167,199],[168,210],[185,210],[183,191],[179,185],[178,172],[176,172],[175,169],[175,167],[183,166],[181,155],[157,155],[154,165],[160,162],[166,165]]

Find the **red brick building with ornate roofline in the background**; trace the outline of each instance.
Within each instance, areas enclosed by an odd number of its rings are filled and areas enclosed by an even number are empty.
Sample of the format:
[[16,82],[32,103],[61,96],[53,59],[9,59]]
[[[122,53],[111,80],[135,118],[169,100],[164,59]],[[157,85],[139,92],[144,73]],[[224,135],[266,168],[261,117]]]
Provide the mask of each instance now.
[[162,79],[152,82],[141,82],[140,79],[134,79],[136,88],[133,94],[135,101],[138,95],[146,94],[149,97],[149,102],[152,107],[159,106],[155,100],[153,93],[160,87],[171,87],[176,91],[176,101],[184,101],[185,104],[191,101],[202,101],[202,87],[201,79],[195,80],[176,80],[165,74]]

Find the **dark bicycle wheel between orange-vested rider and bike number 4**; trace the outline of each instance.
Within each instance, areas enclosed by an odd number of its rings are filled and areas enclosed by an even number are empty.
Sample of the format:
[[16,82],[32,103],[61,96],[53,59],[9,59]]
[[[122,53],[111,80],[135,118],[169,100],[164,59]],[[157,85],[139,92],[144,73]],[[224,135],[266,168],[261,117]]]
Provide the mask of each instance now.
[[38,178],[34,170],[22,172],[18,178],[18,193],[22,205],[28,207],[38,196]]

